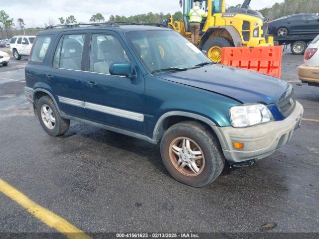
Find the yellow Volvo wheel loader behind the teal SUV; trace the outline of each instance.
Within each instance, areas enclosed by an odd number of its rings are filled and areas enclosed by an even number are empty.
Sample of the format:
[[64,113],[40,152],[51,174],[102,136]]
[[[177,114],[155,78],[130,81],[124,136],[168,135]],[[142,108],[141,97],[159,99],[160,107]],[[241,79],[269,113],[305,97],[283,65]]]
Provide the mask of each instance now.
[[191,40],[188,13],[194,2],[199,1],[201,8],[207,11],[203,18],[199,33],[199,48],[207,51],[208,57],[221,61],[222,47],[241,46],[273,46],[274,39],[267,35],[267,19],[259,11],[249,8],[251,0],[245,0],[238,8],[226,11],[225,0],[180,0],[183,6],[183,19],[173,22],[168,20],[168,27]]

